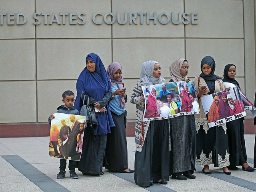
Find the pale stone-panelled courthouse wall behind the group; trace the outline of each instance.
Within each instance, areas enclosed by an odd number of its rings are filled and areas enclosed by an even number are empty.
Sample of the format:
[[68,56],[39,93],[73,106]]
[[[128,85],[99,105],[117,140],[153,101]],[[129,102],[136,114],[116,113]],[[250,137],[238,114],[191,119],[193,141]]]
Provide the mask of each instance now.
[[[76,94],[76,79],[85,67],[85,57],[97,53],[107,67],[120,62],[128,98],[140,76],[143,62],[156,60],[168,81],[168,68],[174,60],[186,58],[188,76],[200,74],[200,61],[206,55],[216,61],[215,74],[222,76],[224,66],[237,66],[236,79],[253,101],[255,93],[255,0],[8,0],[0,13],[25,13],[27,22],[0,25],[0,129],[9,124],[47,122],[62,104],[62,92]],[[50,13],[47,22],[35,25],[33,14]],[[53,13],[81,13],[86,23],[49,24]],[[96,12],[198,13],[198,24],[102,24],[92,22]],[[103,15],[96,17],[103,20]],[[15,16],[14,16],[15,17]],[[76,16],[77,18],[78,16]],[[110,21],[110,17],[107,20]],[[164,19],[163,19],[164,20]],[[128,18],[129,21],[129,18]],[[46,22],[46,24],[44,24]],[[74,22],[82,22],[77,18]],[[135,119],[135,105],[127,103],[128,120]],[[247,113],[247,118],[252,115]],[[0,135],[1,136],[1,135]]]

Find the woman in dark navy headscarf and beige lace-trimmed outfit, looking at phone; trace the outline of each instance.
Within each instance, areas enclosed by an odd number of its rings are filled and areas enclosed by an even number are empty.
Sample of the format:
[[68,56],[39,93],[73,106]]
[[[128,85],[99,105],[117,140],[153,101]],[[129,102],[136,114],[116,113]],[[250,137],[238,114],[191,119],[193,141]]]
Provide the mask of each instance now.
[[195,115],[196,120],[196,165],[203,165],[202,172],[212,174],[209,165],[214,163],[215,167],[222,167],[225,174],[230,175],[228,170],[229,150],[226,124],[209,128],[206,115],[202,107],[201,97],[208,94],[224,91],[226,87],[222,78],[214,74],[215,61],[211,56],[206,56],[201,61],[200,76],[193,79],[196,90],[198,90],[198,103],[200,114]]

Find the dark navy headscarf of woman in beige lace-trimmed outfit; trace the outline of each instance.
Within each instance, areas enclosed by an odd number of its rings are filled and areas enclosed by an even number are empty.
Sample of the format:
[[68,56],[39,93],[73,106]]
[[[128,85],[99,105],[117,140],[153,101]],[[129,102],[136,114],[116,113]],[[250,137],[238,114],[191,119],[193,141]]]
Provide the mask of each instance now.
[[[208,64],[211,67],[211,72],[209,75],[206,75],[203,73],[202,67],[204,64]],[[205,56],[201,61],[201,71],[202,71],[202,73],[200,74],[200,77],[204,78],[204,80],[210,90],[210,93],[208,93],[208,94],[213,94],[214,90],[215,90],[215,81],[217,79],[222,79],[219,76],[214,74],[214,71],[215,71],[214,58],[212,58],[211,56]]]

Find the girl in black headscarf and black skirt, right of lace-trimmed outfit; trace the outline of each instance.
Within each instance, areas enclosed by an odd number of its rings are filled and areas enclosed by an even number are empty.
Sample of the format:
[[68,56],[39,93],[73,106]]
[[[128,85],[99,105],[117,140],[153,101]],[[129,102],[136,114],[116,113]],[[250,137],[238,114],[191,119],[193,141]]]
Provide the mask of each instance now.
[[[236,66],[234,64],[225,66],[223,76],[223,82],[229,82],[239,87],[239,83],[235,80]],[[244,140],[244,118],[238,118],[227,122],[226,125],[228,128],[228,146],[230,152],[229,169],[238,170],[236,166],[241,165],[242,169],[245,171],[254,171],[254,168],[250,167],[246,162],[247,155]]]

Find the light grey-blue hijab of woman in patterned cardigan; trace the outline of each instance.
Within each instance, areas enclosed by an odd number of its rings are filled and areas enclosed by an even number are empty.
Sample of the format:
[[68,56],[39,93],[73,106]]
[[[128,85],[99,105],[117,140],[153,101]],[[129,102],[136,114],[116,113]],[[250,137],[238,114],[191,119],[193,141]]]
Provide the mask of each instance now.
[[165,83],[165,79],[160,77],[154,77],[154,65],[158,63],[156,61],[147,61],[142,64],[140,72],[140,80],[142,80],[147,85],[155,85]]

